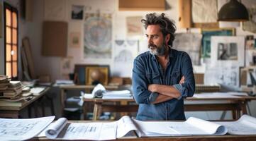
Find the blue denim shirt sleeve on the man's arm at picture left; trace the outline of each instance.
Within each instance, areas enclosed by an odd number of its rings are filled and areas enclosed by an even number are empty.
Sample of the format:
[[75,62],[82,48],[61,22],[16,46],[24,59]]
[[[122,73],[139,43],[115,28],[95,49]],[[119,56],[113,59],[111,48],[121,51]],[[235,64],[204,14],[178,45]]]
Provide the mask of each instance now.
[[157,92],[148,91],[148,80],[145,76],[143,61],[135,59],[133,62],[133,97],[138,104],[151,104],[157,99]]

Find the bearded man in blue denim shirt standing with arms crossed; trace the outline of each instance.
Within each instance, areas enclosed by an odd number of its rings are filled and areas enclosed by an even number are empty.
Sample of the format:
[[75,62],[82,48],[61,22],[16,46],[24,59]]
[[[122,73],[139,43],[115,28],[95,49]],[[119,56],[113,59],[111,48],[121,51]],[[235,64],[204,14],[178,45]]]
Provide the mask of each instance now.
[[148,48],[133,63],[133,96],[139,104],[137,119],[185,120],[184,98],[195,91],[189,55],[172,49],[176,27],[165,13],[146,15],[141,20]]

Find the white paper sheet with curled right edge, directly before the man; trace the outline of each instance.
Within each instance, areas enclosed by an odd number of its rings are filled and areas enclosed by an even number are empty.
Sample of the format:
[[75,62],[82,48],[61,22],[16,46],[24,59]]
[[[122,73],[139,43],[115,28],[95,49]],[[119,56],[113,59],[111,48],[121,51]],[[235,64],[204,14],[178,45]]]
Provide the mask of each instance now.
[[227,129],[223,125],[190,117],[184,122],[170,121],[137,121],[134,120],[143,137],[181,136],[181,135],[225,135]]

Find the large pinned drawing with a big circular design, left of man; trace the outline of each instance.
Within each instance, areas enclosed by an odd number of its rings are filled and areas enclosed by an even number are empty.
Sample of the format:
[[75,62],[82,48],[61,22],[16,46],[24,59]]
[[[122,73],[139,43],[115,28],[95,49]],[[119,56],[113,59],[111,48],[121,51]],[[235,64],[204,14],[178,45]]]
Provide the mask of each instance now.
[[84,58],[111,59],[112,16],[86,13],[84,22]]

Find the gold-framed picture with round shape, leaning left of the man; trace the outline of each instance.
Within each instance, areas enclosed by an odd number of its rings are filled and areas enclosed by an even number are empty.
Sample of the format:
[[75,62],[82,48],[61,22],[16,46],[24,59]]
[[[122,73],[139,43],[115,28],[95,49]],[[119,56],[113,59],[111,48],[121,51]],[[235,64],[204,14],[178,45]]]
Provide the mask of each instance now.
[[108,85],[109,66],[89,66],[86,68],[86,85]]

